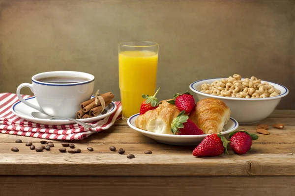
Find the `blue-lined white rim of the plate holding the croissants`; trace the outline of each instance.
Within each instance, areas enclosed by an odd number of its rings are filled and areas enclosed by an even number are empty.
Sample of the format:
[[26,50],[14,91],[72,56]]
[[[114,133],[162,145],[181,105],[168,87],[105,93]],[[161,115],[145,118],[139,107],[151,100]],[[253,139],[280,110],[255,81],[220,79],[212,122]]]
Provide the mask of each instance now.
[[[203,134],[203,135],[173,135],[173,134],[163,134],[163,133],[154,133],[154,132],[146,131],[146,130],[137,128],[136,126],[134,126],[131,123],[132,119],[137,118],[138,116],[139,116],[139,113],[129,117],[128,120],[127,120],[127,124],[131,128],[133,128],[133,129],[135,129],[135,130],[137,130],[137,131],[139,131],[141,133],[148,133],[149,135],[161,136],[161,137],[169,137],[169,138],[205,138],[206,136],[210,135],[210,134]],[[222,135],[229,134],[229,133],[233,132],[234,130],[236,130],[238,128],[237,121],[235,119],[233,119],[232,117],[230,117],[230,120],[235,123],[235,126],[233,128],[231,128],[230,130],[221,132]]]

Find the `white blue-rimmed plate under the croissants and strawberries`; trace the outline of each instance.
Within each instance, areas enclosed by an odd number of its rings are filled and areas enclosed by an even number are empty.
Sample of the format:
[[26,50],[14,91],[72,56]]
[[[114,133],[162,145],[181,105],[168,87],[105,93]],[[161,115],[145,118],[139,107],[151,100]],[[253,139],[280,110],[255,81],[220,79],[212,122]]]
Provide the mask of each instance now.
[[[128,125],[133,128],[134,130],[137,130],[141,132],[143,135],[154,139],[157,142],[164,143],[164,144],[170,144],[170,145],[180,145],[180,146],[190,146],[190,145],[197,145],[209,134],[204,135],[173,135],[173,134],[161,134],[161,133],[154,133],[149,132],[143,129],[139,129],[135,126],[135,120],[139,116],[138,114],[135,114],[128,118]],[[230,118],[229,122],[224,126],[225,131],[221,132],[221,135],[227,135],[233,131],[235,131],[238,127],[238,123],[235,119]]]

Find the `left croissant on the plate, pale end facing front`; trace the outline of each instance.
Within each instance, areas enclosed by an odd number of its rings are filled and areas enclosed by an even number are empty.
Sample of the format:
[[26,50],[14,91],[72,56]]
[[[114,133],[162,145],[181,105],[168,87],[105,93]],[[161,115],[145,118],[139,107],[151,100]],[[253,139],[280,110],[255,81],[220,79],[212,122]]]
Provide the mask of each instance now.
[[171,123],[180,113],[179,109],[166,100],[161,101],[154,110],[149,110],[145,114],[140,115],[135,120],[137,128],[162,134],[173,134],[171,131]]

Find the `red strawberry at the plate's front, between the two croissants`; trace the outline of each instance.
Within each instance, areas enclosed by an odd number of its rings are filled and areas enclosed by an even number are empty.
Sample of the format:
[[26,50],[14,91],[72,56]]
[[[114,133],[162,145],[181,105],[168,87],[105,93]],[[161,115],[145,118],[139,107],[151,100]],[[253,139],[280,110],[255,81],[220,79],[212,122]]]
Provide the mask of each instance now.
[[176,135],[201,135],[204,132],[188,116],[183,115],[184,110],[180,112],[171,123],[171,131]]

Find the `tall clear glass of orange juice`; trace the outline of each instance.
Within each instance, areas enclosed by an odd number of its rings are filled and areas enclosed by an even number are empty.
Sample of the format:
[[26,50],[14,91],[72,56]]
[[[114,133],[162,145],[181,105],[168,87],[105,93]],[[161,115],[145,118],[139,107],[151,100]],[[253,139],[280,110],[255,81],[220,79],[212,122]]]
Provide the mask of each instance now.
[[119,88],[124,121],[139,113],[143,94],[152,96],[155,93],[158,49],[155,42],[119,43]]

